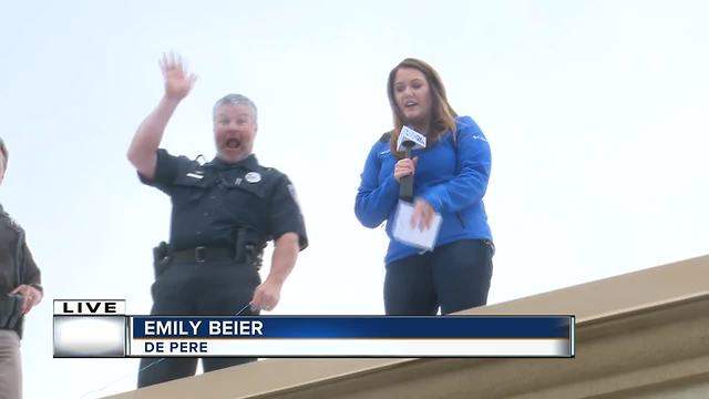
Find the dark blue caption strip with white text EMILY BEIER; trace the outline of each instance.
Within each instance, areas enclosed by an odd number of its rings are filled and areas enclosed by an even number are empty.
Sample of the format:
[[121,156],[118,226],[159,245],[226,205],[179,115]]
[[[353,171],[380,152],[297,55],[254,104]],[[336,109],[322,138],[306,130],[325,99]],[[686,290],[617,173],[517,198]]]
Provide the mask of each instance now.
[[573,316],[133,316],[133,338],[571,338]]

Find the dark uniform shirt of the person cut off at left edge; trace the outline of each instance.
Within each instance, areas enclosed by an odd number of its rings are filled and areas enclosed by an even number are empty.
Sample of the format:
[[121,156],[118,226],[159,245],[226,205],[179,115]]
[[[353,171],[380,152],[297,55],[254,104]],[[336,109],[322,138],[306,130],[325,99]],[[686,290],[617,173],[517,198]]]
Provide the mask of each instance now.
[[[18,262],[21,264],[18,265]],[[18,267],[22,272],[20,282],[17,276]],[[40,269],[24,242],[22,227],[0,205],[0,294],[10,293],[21,284],[31,284],[41,290],[40,283]]]

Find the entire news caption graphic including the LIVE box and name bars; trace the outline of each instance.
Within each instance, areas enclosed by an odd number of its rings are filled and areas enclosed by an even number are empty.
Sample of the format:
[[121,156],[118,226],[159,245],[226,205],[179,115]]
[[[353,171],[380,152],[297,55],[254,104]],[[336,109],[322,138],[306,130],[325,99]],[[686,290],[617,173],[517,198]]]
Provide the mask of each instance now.
[[574,316],[131,316],[55,300],[54,357],[574,357]]

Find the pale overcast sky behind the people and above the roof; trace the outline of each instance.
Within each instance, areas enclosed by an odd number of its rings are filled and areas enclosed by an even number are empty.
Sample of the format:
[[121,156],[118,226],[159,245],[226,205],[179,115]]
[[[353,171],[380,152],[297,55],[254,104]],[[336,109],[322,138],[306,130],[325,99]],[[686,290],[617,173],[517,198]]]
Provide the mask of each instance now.
[[135,387],[136,360],[52,359],[51,305],[150,311],[169,202],[125,152],[162,95],[162,52],[199,75],[164,146],[210,158],[212,104],[244,93],[256,154],[298,190],[311,246],[274,314],[379,315],[387,239],[352,207],[391,125],[393,65],[430,62],[487,135],[500,303],[707,253],[708,16],[699,0],[3,1],[0,202],[47,287],[27,323],[25,397]]

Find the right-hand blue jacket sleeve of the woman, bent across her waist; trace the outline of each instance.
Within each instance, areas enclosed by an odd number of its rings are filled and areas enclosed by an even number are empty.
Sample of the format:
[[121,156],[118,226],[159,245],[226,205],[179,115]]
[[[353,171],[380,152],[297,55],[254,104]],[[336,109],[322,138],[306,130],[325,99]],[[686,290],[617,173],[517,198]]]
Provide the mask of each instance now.
[[456,156],[459,173],[421,195],[438,213],[459,212],[481,201],[487,190],[492,165],[490,145],[469,116],[459,120]]

